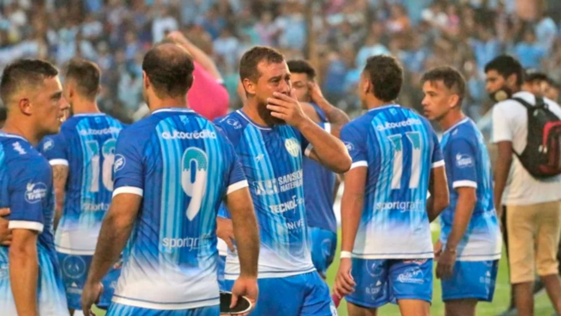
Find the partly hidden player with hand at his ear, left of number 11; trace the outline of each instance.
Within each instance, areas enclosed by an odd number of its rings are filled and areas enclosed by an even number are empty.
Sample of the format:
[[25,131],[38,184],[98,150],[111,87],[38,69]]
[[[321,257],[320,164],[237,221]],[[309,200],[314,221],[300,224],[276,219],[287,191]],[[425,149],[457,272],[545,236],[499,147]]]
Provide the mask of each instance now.
[[[339,135],[341,127],[350,121],[349,117],[325,100],[314,81],[315,69],[304,60],[291,60],[287,64],[296,99],[301,102],[306,115],[324,130],[333,130],[337,133],[334,135]],[[335,173],[309,158],[302,159],[302,170],[312,262],[321,278],[325,280],[337,248],[337,220],[333,212],[333,202],[339,182]]]

